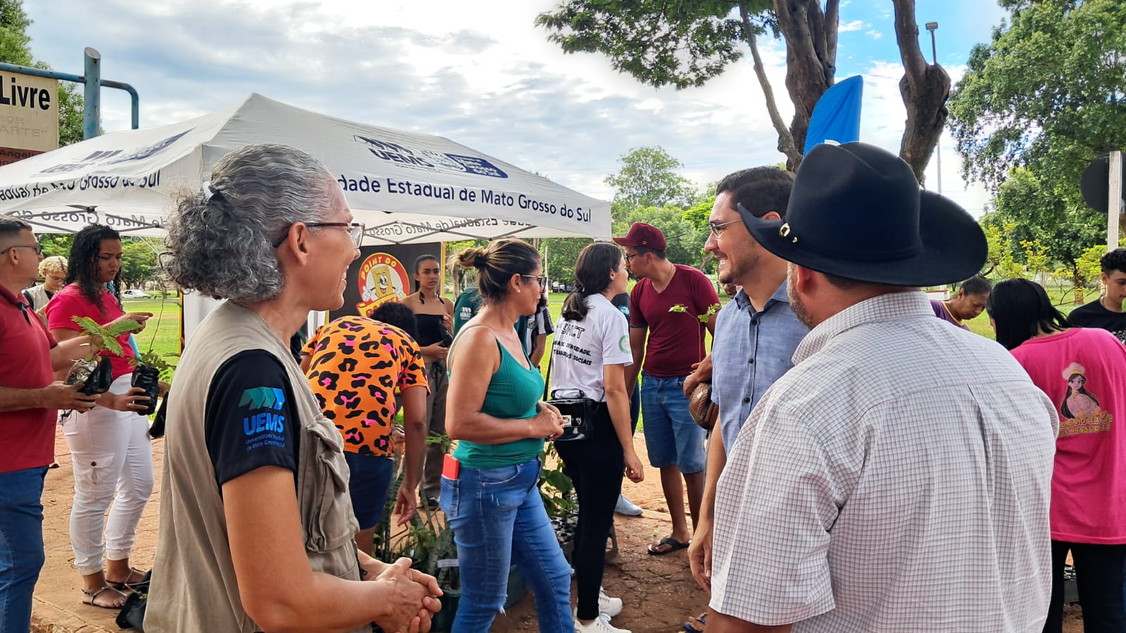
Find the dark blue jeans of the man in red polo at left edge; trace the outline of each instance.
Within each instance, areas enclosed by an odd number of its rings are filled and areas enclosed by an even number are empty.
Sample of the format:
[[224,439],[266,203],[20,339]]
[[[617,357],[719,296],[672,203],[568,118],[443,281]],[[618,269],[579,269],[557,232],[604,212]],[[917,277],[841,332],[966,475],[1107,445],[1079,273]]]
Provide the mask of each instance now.
[[43,569],[46,466],[0,473],[0,631],[32,627],[32,591]]

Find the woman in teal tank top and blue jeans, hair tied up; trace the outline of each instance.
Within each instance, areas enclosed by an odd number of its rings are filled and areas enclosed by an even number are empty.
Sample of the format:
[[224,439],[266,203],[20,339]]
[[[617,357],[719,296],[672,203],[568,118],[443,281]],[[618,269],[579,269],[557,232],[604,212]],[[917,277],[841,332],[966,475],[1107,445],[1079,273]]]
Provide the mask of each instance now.
[[504,605],[509,567],[536,596],[539,630],[573,633],[571,568],[539,489],[539,452],[563,434],[563,418],[540,402],[544,380],[512,323],[536,311],[539,253],[521,240],[494,240],[458,256],[477,269],[484,307],[449,351],[446,431],[457,440],[443,470],[439,505],[457,544],[462,597],[453,633],[485,633]]

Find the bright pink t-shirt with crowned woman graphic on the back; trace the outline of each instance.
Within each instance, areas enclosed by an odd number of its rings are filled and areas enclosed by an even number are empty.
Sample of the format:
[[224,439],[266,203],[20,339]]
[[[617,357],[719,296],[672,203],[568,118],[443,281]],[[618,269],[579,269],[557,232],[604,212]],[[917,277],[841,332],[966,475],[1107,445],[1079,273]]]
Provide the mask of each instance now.
[[1052,538],[1126,543],[1126,347],[1106,330],[1072,328],[1012,355],[1060,413]]

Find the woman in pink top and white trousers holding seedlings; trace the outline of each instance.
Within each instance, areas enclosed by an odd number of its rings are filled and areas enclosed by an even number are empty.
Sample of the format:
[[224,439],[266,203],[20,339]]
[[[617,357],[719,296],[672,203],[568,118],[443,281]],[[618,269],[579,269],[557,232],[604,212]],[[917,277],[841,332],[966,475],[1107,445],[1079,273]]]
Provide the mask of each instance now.
[[[151,313],[126,314],[120,298],[106,288],[109,282],[120,287],[120,269],[117,231],[91,224],[74,235],[66,286],[46,307],[47,327],[55,339],[80,336],[82,328],[74,316],[89,316],[102,326],[122,320],[144,326]],[[129,552],[153,485],[149,418],[136,413],[148,407],[149,398],[132,387],[129,335],[122,335],[117,342],[125,356],[101,353],[114,368],[109,392],[98,396],[93,409],[71,413],[63,421],[74,469],[70,520],[74,567],[82,574],[82,601],[104,608],[120,607],[125,603],[122,591],[144,576],[129,567]]]

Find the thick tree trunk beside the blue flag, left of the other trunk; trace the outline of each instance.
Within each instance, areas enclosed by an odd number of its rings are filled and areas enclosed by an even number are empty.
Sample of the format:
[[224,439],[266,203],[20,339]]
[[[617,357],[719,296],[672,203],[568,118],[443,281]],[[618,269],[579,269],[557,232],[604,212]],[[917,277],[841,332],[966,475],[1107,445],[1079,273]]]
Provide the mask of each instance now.
[[[794,102],[789,132],[798,151],[817,99],[837,74],[837,27],[840,0],[774,0],[778,29],[786,39],[786,89]],[[796,166],[794,166],[796,168]]]

